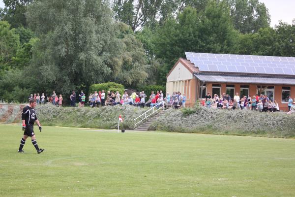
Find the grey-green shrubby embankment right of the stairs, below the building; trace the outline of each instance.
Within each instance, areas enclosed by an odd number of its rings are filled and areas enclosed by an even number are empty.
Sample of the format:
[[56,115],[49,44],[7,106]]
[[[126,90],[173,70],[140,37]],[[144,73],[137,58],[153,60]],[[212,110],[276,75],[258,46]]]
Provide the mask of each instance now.
[[169,109],[151,127],[160,131],[295,137],[295,115],[205,107]]

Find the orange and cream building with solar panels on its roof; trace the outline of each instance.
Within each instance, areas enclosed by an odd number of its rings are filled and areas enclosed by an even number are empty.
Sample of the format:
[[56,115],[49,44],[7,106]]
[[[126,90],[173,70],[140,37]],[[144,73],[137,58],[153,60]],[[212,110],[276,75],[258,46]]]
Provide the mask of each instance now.
[[234,98],[264,94],[288,109],[288,96],[295,98],[295,58],[186,52],[167,75],[166,93],[185,94],[186,106],[197,99],[222,93]]

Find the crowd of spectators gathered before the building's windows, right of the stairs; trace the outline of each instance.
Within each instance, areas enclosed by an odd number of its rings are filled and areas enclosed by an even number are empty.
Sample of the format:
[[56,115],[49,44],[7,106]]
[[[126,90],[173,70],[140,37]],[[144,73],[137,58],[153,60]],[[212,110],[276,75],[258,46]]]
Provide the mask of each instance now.
[[[290,97],[291,98],[291,97]],[[223,93],[222,95],[214,95],[211,97],[208,92],[206,100],[201,99],[201,104],[205,107],[211,107],[216,109],[241,109],[241,110],[256,110],[260,112],[276,112],[280,111],[279,105],[276,100],[271,101],[267,95],[255,96],[248,95],[239,97],[238,93],[231,98],[228,94]],[[293,101],[292,101],[293,102]],[[291,104],[292,104],[291,102]]]

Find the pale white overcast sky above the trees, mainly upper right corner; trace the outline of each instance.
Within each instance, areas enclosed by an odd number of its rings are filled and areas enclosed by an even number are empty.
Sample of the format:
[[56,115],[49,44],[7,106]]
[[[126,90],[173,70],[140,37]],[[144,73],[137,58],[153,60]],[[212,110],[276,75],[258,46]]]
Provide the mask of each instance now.
[[[260,0],[266,4],[271,17],[271,27],[279,24],[279,20],[292,24],[295,18],[295,0]],[[4,7],[3,0],[0,0],[0,7]]]

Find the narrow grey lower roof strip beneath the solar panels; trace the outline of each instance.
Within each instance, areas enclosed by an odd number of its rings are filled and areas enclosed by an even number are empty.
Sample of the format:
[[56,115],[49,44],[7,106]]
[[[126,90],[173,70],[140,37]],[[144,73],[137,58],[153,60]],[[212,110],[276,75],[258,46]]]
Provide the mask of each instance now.
[[214,75],[214,74],[194,74],[194,75],[199,80],[204,82],[295,85],[295,78],[275,78],[274,80],[273,77],[259,77],[259,76]]

